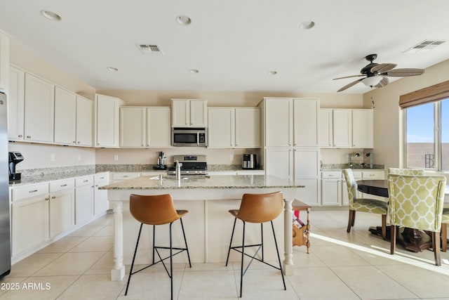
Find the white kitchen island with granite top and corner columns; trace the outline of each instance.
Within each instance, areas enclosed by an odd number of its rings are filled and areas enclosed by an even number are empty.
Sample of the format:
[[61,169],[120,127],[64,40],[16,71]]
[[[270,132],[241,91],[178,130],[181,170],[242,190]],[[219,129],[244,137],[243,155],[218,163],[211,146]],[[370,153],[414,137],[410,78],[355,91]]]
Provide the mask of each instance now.
[[[283,230],[278,240],[283,244],[283,271],[286,275],[293,275],[293,242],[292,242],[292,201],[297,188],[304,185],[294,185],[288,179],[263,175],[234,175],[234,176],[206,176],[197,178],[184,177],[177,181],[169,176],[140,176],[119,183],[112,183],[101,187],[107,190],[108,200],[112,202],[114,210],[114,268],[111,271],[112,280],[122,280],[125,275],[124,264],[130,264],[135,240],[138,235],[138,221],[129,212],[130,194],[161,195],[171,194],[176,209],[188,209],[183,221],[187,235],[187,244],[193,263],[225,263],[229,238],[231,236],[234,218],[228,213],[229,209],[237,209],[244,193],[271,193],[280,190],[284,197],[284,214],[274,220],[277,231]],[[175,224],[174,243],[182,240],[180,230]],[[136,263],[149,263],[152,260],[152,226],[144,226],[145,239],[139,244]],[[159,226],[161,227],[161,226]],[[166,242],[168,235],[159,229],[156,242]],[[248,226],[248,243],[260,239],[260,226]],[[166,228],[168,229],[168,228]],[[177,232],[176,232],[177,231]],[[239,229],[236,230],[236,233]],[[272,237],[269,230],[267,235],[265,256],[275,259]],[[272,236],[272,235],[271,235]],[[283,239],[283,240],[282,240]],[[234,237],[238,241],[239,237]],[[241,238],[240,238],[241,240]],[[269,249],[273,248],[272,251]],[[280,247],[280,251],[282,247]],[[183,256],[175,256],[177,261],[185,262]],[[231,256],[231,261],[238,260]]]

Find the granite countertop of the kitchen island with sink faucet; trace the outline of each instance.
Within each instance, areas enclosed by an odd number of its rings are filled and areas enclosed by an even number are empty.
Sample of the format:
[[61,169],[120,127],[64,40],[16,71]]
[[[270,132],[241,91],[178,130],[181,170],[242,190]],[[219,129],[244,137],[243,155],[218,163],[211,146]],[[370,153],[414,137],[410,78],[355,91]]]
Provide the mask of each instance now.
[[288,179],[264,175],[220,175],[202,178],[185,177],[180,181],[170,176],[140,176],[100,187],[101,190],[165,190],[165,189],[228,189],[228,188],[304,188],[290,184]]

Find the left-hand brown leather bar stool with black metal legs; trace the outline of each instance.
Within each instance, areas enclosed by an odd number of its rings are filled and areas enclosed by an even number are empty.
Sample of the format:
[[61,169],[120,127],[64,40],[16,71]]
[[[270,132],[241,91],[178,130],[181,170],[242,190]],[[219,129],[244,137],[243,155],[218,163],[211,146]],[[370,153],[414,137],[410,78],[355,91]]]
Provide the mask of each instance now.
[[[126,284],[126,294],[128,294],[129,282],[131,280],[131,275],[140,272],[141,270],[145,270],[151,266],[154,266],[156,263],[162,263],[163,267],[166,269],[168,277],[170,278],[170,295],[171,299],[173,299],[173,256],[176,254],[180,254],[181,252],[187,252],[187,259],[189,259],[189,267],[192,268],[192,264],[190,263],[190,255],[189,248],[187,247],[187,240],[185,238],[184,225],[182,224],[182,216],[185,216],[189,211],[187,210],[176,210],[175,205],[173,204],[173,198],[169,194],[165,195],[135,195],[131,194],[129,197],[129,210],[133,215],[134,219],[140,222],[140,229],[138,235],[138,241],[135,243],[135,250],[133,256],[133,262],[131,263],[131,268],[128,276],[128,283]],[[172,245],[172,224],[174,221],[179,219],[181,221],[182,235],[184,236],[185,248],[173,247]],[[160,247],[154,244],[156,237],[156,225],[170,224],[170,247]],[[138,252],[138,245],[140,240],[140,233],[142,232],[143,224],[148,224],[153,226],[153,261],[148,266],[141,268],[133,272],[135,254]],[[161,257],[158,249],[170,249],[170,256],[165,258]],[[173,254],[173,250],[178,250],[175,254]],[[154,261],[154,254],[159,256],[159,261]],[[166,259],[170,259],[170,272],[168,272],[167,266],[164,263]]]

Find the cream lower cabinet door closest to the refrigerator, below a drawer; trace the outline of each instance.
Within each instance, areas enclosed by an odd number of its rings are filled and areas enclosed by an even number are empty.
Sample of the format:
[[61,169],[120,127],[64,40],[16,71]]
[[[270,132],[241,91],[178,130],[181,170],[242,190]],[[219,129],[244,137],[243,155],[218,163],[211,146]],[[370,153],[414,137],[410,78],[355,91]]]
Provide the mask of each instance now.
[[30,197],[12,205],[13,256],[48,240],[48,195]]

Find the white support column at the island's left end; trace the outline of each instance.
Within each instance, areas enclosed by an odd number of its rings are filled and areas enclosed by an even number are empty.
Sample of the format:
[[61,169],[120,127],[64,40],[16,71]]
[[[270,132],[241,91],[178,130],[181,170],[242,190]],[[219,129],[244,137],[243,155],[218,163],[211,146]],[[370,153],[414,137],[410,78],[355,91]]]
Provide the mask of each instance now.
[[112,205],[114,211],[114,268],[111,270],[111,280],[121,281],[125,277],[125,266],[123,265],[123,202],[114,201]]

